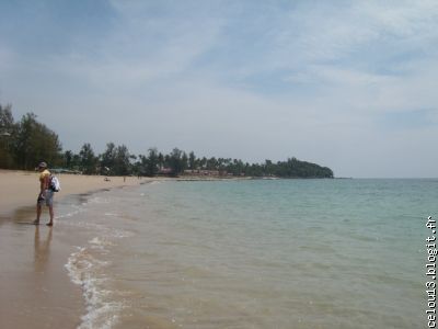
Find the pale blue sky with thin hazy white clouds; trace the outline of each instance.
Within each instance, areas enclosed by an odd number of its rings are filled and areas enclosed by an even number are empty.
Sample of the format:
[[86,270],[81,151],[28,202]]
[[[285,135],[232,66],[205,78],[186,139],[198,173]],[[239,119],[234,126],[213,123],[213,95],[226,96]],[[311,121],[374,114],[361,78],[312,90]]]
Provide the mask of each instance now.
[[0,0],[0,104],[110,141],[438,177],[438,2]]

